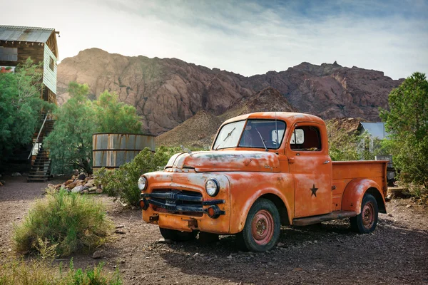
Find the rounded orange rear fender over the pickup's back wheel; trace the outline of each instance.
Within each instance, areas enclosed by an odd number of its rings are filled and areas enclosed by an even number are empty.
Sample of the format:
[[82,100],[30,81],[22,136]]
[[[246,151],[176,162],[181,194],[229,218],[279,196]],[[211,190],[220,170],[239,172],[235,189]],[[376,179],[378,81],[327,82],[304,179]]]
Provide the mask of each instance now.
[[362,198],[370,188],[379,192],[380,197],[382,197],[382,202],[384,203],[384,195],[382,191],[380,191],[381,188],[376,182],[366,178],[356,178],[351,180],[345,187],[342,195],[342,210],[360,214]]

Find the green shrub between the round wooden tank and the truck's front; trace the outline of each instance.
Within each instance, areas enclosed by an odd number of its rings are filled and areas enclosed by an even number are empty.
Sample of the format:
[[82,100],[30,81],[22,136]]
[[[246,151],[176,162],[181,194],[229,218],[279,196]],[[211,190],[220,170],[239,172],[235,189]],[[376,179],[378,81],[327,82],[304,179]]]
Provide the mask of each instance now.
[[170,157],[180,151],[178,147],[159,147],[153,153],[146,147],[131,162],[115,171],[101,168],[96,172],[97,183],[103,185],[103,191],[108,195],[121,197],[123,202],[138,206],[141,192],[137,186],[138,178],[146,172],[162,170]]

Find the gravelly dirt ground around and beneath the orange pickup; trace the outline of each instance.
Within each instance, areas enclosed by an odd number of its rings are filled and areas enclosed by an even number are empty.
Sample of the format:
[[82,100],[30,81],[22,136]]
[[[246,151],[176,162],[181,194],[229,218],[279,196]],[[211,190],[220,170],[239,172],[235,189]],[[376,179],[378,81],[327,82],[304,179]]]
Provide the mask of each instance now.
[[[13,224],[47,185],[25,177],[2,179],[0,263],[16,256]],[[101,248],[102,259],[76,254],[74,264],[85,268],[104,261],[111,271],[118,266],[125,284],[428,284],[428,206],[409,199],[389,202],[390,215],[379,214],[372,234],[350,232],[347,220],[284,227],[280,247],[253,254],[238,252],[235,237],[215,244],[161,242],[158,227],[143,223],[140,211],[123,209],[106,195],[94,197],[124,233],[113,234]]]

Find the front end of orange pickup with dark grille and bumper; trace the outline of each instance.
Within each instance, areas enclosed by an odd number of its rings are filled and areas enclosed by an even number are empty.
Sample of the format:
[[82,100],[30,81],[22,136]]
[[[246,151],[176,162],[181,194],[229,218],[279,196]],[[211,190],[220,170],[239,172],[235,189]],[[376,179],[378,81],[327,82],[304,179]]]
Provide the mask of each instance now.
[[[147,189],[141,192],[143,220],[159,227],[190,232],[228,234],[230,227],[230,182],[220,173],[146,173]],[[218,195],[205,192],[205,182],[220,183]]]

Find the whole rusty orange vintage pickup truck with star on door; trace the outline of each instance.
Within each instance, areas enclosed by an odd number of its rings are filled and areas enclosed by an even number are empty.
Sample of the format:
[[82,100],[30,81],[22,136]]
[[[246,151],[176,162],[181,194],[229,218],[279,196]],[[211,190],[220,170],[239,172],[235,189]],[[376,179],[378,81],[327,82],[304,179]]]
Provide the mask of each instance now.
[[350,218],[369,233],[386,213],[386,161],[332,162],[322,119],[251,113],[225,121],[209,151],[182,152],[141,175],[143,220],[165,239],[237,234],[244,249],[272,249],[281,225]]

